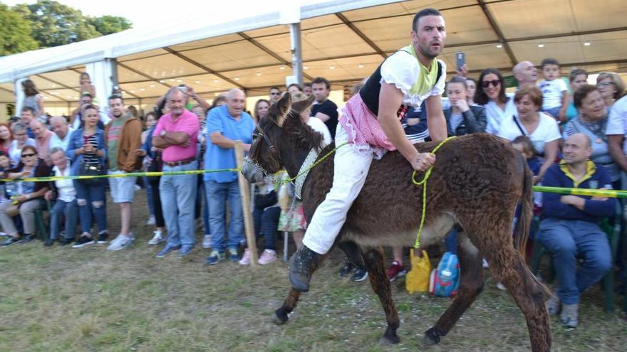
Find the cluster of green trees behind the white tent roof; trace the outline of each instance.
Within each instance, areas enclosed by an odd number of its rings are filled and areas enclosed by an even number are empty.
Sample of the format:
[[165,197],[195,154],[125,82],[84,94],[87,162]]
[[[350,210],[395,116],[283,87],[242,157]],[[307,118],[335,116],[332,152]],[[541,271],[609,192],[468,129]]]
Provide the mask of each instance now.
[[0,55],[50,48],[106,36],[131,28],[133,23],[118,16],[85,16],[77,9],[52,0],[0,4]]

